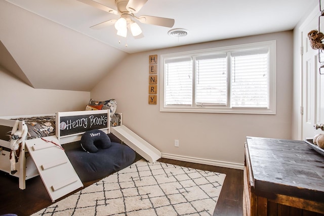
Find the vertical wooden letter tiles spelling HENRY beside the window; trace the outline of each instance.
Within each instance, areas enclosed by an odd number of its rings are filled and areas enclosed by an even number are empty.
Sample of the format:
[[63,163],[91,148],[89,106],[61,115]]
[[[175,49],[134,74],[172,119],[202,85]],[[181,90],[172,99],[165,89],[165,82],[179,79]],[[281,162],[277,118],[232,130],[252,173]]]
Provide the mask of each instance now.
[[148,104],[156,104],[157,98],[157,55],[148,58]]

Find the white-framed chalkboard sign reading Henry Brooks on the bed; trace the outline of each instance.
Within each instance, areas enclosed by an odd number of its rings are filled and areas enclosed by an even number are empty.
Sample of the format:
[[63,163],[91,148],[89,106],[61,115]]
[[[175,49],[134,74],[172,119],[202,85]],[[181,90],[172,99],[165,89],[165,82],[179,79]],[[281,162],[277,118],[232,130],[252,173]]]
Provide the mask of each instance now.
[[60,135],[82,133],[108,127],[108,113],[60,117]]

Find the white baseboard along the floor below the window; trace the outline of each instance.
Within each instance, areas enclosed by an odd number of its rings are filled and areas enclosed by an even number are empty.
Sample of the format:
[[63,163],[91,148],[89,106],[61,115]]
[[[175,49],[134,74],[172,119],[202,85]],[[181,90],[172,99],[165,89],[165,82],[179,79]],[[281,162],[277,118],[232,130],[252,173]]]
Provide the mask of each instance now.
[[212,165],[212,166],[220,166],[220,167],[233,168],[233,169],[244,169],[244,164],[241,164],[241,163],[231,163],[231,162],[225,162],[225,161],[187,157],[187,156],[167,154],[167,153],[161,153],[161,157],[167,158],[167,159],[173,159],[173,160],[192,162],[192,163]]

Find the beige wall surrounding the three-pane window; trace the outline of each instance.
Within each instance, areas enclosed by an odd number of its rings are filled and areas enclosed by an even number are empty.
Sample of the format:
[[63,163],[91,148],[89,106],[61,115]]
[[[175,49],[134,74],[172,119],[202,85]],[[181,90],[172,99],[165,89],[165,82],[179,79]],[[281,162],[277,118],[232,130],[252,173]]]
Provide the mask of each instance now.
[[[180,38],[181,39],[181,38]],[[159,112],[148,104],[148,56],[276,40],[276,115]],[[159,70],[158,62],[158,70]],[[159,75],[158,71],[158,75]],[[291,139],[293,31],[132,54],[91,91],[115,98],[124,124],[169,158],[241,165],[247,136]],[[159,100],[159,98],[158,98]],[[180,146],[174,147],[174,140]]]

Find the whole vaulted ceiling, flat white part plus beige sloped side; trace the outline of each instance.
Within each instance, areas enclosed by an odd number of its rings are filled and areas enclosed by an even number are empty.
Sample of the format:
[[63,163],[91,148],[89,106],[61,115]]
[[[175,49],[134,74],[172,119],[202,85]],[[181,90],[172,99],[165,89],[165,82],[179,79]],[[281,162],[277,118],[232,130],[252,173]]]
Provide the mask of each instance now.
[[[114,0],[97,0],[116,9]],[[36,89],[91,91],[133,53],[293,29],[317,0],[148,0],[136,15],[175,19],[172,28],[139,23],[144,37],[95,24],[118,16],[76,0],[0,0],[0,65]],[[184,37],[168,34],[186,29]],[[120,43],[119,43],[120,40]],[[125,45],[128,45],[127,47]]]

